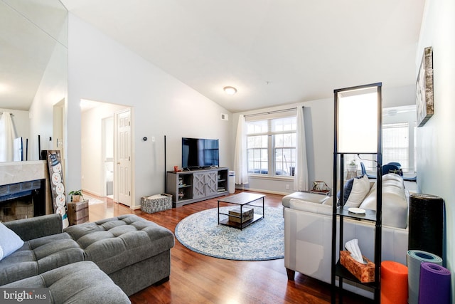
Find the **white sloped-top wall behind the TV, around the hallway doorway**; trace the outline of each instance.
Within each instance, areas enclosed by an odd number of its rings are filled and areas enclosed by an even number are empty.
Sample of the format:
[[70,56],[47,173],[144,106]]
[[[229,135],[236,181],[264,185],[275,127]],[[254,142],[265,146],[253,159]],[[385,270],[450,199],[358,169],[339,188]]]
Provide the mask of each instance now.
[[164,192],[165,135],[167,170],[181,166],[181,137],[220,139],[220,166],[231,167],[228,110],[72,14],[68,48],[68,189],[81,188],[80,99],[132,107],[133,206]]

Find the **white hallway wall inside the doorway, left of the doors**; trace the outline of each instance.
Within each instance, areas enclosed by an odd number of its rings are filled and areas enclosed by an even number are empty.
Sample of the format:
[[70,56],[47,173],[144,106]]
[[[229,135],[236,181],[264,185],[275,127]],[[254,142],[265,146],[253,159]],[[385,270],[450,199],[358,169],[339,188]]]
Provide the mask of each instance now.
[[80,150],[81,182],[84,191],[103,195],[105,158],[102,150],[102,119],[114,116],[124,105],[99,103],[99,106],[81,113]]

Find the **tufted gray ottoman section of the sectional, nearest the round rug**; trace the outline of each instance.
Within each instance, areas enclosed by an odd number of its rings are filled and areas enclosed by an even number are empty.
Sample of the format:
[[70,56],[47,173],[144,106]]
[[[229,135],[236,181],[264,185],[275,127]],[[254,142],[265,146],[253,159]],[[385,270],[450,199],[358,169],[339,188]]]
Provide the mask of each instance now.
[[174,237],[154,222],[128,214],[70,226],[64,233],[127,295],[168,281]]

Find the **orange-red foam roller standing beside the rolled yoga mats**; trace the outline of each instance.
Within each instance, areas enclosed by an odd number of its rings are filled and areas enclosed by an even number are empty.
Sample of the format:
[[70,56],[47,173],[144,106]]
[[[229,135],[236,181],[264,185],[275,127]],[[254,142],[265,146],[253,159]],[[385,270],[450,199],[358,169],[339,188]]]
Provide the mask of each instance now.
[[381,263],[381,303],[407,304],[407,267],[395,261]]

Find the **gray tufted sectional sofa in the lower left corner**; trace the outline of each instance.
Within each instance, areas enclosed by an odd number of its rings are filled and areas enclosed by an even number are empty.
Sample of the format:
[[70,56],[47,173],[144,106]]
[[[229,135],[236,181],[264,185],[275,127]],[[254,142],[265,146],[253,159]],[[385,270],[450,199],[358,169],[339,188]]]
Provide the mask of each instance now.
[[0,287],[49,288],[53,303],[129,303],[171,273],[172,232],[136,215],[63,230],[59,214],[4,225],[24,243],[0,261]]

